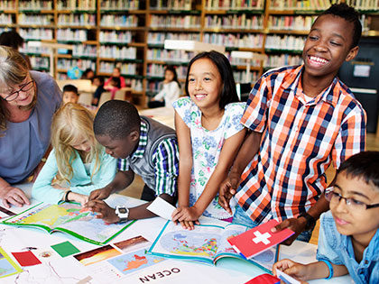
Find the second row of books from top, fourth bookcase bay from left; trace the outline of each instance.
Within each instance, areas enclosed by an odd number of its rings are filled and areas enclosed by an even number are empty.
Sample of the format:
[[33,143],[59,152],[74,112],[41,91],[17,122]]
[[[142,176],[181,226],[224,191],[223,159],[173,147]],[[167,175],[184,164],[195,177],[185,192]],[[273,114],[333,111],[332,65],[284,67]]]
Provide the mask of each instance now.
[[150,27],[152,28],[199,28],[201,17],[197,15],[167,16],[152,15],[150,17]]

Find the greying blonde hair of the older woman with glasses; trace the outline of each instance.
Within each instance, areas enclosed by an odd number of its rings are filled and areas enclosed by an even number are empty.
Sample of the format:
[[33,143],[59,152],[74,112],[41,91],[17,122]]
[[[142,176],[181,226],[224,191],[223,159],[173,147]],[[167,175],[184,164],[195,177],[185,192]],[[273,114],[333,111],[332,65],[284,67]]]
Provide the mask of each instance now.
[[[13,48],[0,46],[0,84],[6,87],[20,85],[28,74],[28,64],[20,53]],[[20,108],[23,110],[32,109],[37,102],[36,93],[30,105],[21,106]],[[0,97],[0,131],[6,130],[6,119],[9,116],[4,102],[5,99]]]

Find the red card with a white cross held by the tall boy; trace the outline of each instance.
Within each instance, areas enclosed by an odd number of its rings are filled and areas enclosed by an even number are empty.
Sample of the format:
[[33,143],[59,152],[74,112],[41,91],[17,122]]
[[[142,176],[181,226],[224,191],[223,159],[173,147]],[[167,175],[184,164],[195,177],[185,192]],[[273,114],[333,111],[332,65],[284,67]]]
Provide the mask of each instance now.
[[255,255],[262,253],[276,244],[288,239],[295,234],[290,229],[284,229],[280,232],[273,233],[271,229],[279,224],[276,220],[270,220],[243,234],[229,238],[227,241],[233,246],[236,252],[242,253],[246,259],[253,258]]

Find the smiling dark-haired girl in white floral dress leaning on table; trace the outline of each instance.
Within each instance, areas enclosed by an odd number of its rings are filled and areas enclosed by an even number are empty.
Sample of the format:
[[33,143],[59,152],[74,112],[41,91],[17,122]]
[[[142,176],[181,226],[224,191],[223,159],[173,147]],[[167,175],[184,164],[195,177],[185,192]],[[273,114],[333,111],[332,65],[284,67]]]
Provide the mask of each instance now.
[[232,68],[217,51],[190,60],[185,88],[189,97],[173,104],[180,175],[179,205],[172,220],[193,229],[202,214],[231,217],[218,206],[216,195],[245,137],[240,124],[245,103],[235,103],[239,99]]

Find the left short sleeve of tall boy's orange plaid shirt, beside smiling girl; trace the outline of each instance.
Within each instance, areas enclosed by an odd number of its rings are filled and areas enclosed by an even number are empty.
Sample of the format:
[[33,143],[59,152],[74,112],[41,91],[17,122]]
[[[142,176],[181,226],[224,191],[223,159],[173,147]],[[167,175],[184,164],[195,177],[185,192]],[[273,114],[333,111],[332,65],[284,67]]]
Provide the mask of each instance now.
[[250,92],[241,124],[255,132],[262,133],[266,124],[266,110],[271,100],[267,78],[261,77]]

